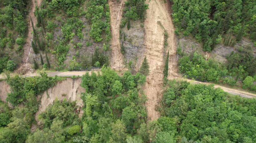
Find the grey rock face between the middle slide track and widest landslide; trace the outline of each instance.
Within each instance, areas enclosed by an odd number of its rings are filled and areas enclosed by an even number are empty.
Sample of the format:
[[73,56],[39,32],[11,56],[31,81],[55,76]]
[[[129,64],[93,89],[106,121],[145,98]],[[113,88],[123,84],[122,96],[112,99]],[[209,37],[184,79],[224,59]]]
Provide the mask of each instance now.
[[131,21],[131,28],[128,30],[127,25],[122,28],[121,46],[124,49],[126,63],[133,62],[133,70],[138,71],[142,63],[145,52],[144,45],[145,30],[142,21]]

